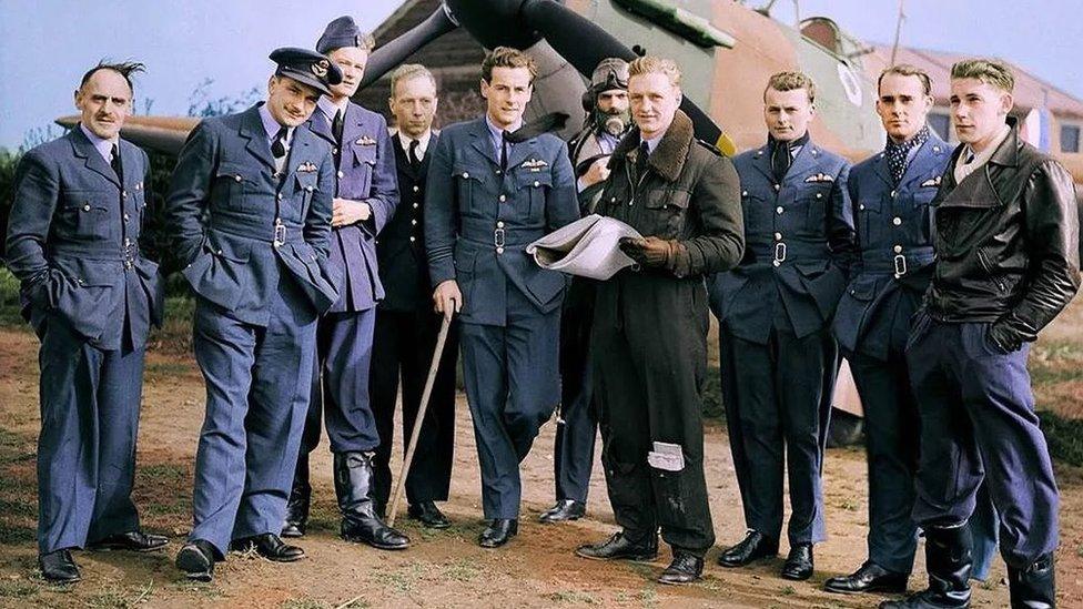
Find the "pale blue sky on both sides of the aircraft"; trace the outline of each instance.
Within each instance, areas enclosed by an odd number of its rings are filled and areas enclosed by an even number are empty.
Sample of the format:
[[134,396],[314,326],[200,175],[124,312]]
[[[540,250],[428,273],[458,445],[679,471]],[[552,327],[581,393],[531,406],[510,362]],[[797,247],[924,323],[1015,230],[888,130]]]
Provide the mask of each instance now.
[[[608,1],[608,0],[598,0]],[[716,0],[730,1],[730,0]],[[136,108],[183,114],[204,79],[211,98],[262,88],[275,47],[312,47],[327,21],[353,14],[373,28],[395,0],[0,0],[0,148],[74,112],[72,91],[99,59],[138,59]],[[765,0],[749,0],[759,6]],[[824,14],[878,42],[894,37],[898,0],[802,0],[801,17]],[[1083,98],[1079,0],[907,0],[902,43],[1010,59]],[[791,22],[790,2],[776,17]]]

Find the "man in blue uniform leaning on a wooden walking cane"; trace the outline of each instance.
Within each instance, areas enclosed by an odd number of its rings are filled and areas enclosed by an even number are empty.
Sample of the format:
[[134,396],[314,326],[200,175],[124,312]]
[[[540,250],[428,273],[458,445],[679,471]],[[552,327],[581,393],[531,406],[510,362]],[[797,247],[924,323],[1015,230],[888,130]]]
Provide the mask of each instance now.
[[482,63],[485,116],[441,133],[425,185],[433,298],[445,316],[462,315],[486,548],[518,530],[519,463],[560,395],[567,280],[535,264],[526,245],[575,221],[579,207],[567,145],[547,133],[514,133],[536,75],[529,55],[493,50]]

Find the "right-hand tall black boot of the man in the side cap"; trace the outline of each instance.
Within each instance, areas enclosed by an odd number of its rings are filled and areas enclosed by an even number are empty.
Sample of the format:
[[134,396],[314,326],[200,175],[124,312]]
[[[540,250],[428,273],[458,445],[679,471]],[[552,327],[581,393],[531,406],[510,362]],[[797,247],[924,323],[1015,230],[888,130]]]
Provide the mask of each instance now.
[[382,550],[403,550],[409,538],[388,527],[376,516],[368,486],[372,483],[372,455],[335,453],[335,495],[342,511],[342,538],[361,541]]

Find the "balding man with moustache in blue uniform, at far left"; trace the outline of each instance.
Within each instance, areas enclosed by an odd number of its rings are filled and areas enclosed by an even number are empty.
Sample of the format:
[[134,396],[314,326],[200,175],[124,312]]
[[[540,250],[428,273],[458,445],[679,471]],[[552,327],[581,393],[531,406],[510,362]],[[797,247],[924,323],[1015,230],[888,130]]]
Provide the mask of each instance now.
[[158,264],[139,251],[146,153],[120,139],[141,63],[99,63],[75,91],[80,122],[23,156],[8,267],[41,339],[38,565],[80,578],[71,548],[156,550],[132,503],[143,355],[161,324]]

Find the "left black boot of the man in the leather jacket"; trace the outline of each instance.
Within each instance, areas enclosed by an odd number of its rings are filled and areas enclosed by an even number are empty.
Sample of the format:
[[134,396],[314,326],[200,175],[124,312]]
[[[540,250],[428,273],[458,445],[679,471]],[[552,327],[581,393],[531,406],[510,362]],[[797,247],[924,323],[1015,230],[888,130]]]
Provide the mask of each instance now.
[[970,567],[973,540],[965,524],[925,529],[925,570],[929,588],[881,609],[959,609],[970,607]]

